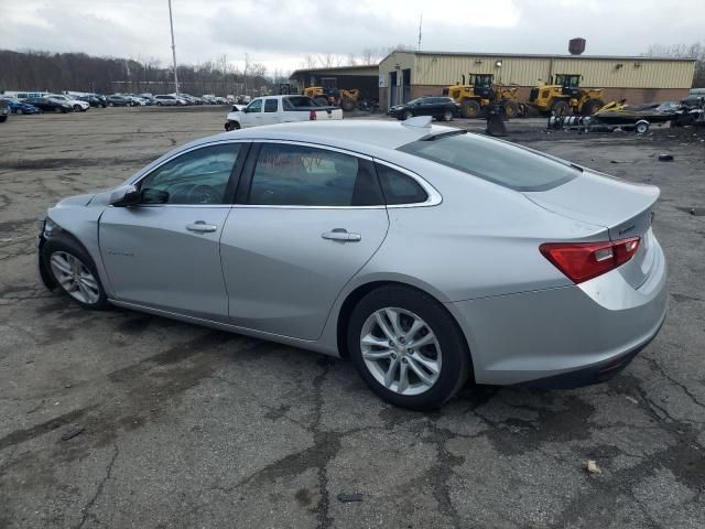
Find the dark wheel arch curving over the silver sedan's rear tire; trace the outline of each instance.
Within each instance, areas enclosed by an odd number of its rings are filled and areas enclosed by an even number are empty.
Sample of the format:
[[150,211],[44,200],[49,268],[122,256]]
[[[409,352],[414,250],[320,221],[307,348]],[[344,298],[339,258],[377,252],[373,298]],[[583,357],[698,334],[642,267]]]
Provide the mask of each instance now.
[[348,323],[350,321],[350,314],[352,313],[352,310],[360,302],[360,300],[362,300],[362,298],[365,298],[370,292],[377,289],[380,289],[382,287],[401,287],[401,288],[409,289],[409,290],[419,292],[421,294],[427,295],[433,300],[435,300],[438,303],[438,305],[442,306],[443,310],[451,316],[454,325],[459,332],[463,338],[463,342],[465,343],[467,354],[469,355],[469,358],[470,358],[470,376],[473,378],[475,377],[475,368],[473,364],[473,354],[471,354],[470,343],[468,341],[467,334],[463,330],[463,326],[460,326],[460,323],[458,322],[458,314],[456,314],[455,311],[449,309],[449,306],[452,306],[452,303],[448,303],[447,301],[446,302],[442,301],[440,299],[441,298],[440,295],[434,295],[434,293],[432,292],[433,289],[421,288],[419,285],[412,284],[411,282],[404,282],[397,279],[372,280],[372,281],[359,284],[355,289],[352,289],[350,292],[348,292],[345,300],[340,304],[340,309],[338,310],[337,321],[336,321],[337,348],[338,348],[338,354],[340,355],[341,358],[349,358],[349,352],[347,349],[347,332],[348,332]]

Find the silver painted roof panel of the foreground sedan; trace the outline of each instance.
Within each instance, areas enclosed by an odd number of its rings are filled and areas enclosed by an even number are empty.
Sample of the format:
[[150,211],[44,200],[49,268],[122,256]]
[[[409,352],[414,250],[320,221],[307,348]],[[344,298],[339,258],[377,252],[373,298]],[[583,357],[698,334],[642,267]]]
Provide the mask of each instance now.
[[[319,143],[362,152],[377,149],[397,149],[424,136],[455,130],[449,127],[412,127],[401,121],[371,119],[340,121],[301,121],[294,123],[253,127],[216,137],[204,138],[203,142],[223,139],[292,140]],[[356,147],[358,149],[356,149]]]

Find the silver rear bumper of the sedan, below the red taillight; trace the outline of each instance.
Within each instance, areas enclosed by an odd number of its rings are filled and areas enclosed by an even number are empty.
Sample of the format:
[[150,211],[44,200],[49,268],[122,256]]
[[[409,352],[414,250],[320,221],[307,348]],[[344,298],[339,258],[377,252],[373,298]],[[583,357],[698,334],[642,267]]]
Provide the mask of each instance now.
[[653,240],[655,262],[638,289],[617,269],[579,285],[449,303],[476,381],[577,387],[623,369],[665,319],[666,266]]

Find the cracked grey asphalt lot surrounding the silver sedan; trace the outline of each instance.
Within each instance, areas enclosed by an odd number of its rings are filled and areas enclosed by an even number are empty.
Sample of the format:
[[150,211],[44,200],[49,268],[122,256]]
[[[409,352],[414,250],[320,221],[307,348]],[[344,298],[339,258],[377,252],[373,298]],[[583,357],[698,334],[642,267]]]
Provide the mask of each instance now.
[[705,527],[705,142],[690,130],[508,123],[661,187],[666,323],[608,384],[468,386],[424,414],[377,399],[348,361],[43,289],[47,206],[221,131],[227,112],[159,110],[0,126],[0,527]]

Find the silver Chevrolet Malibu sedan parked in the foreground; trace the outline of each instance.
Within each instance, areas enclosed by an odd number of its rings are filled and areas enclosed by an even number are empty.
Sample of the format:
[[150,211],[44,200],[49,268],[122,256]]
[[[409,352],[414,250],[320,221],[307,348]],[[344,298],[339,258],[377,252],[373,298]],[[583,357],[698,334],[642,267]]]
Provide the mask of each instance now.
[[48,209],[40,273],[110,305],[351,358],[431,409],[575,387],[659,332],[659,190],[429,118],[226,132]]

